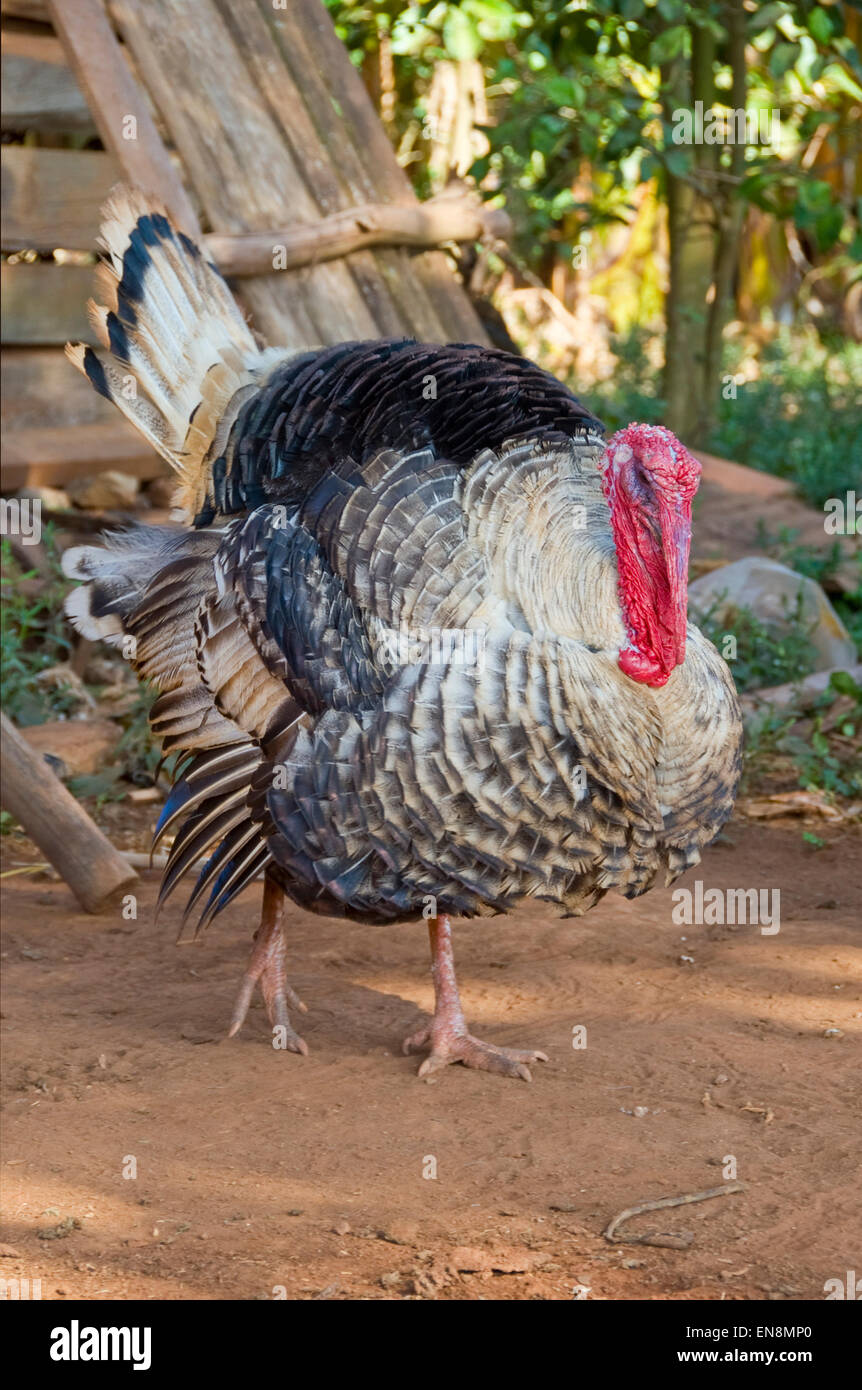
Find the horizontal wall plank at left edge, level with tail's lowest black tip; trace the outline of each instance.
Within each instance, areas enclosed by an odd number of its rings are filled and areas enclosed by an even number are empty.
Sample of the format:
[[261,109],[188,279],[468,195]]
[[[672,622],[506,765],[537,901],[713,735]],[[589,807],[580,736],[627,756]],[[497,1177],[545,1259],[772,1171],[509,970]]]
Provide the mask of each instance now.
[[4,430],[120,420],[117,406],[75,371],[61,348],[4,348],[0,354]]

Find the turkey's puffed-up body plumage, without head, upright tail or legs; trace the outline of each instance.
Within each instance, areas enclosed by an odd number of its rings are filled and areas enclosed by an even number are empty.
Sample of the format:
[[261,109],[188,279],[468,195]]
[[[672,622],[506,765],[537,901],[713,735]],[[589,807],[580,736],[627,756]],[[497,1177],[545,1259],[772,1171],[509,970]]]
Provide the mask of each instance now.
[[164,892],[213,851],[204,917],[264,865],[361,920],[580,913],[697,862],[733,803],[735,694],[695,628],[663,689],[620,671],[601,452],[505,353],[274,371],[213,467],[218,514],[121,609],[154,731],[189,755]]

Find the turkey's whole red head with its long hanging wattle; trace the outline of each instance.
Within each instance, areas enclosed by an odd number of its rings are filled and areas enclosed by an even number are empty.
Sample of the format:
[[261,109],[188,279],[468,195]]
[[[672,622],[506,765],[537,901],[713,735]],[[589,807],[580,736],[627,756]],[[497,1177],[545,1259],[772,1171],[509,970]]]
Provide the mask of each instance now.
[[620,670],[645,685],[665,685],[685,659],[691,502],[699,481],[701,464],[662,425],[617,431],[602,457],[628,634]]

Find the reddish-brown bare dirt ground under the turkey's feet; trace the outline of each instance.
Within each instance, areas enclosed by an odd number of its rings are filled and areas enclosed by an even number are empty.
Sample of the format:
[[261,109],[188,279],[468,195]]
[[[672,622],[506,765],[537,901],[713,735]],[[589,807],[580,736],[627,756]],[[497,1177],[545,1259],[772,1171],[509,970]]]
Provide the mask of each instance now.
[[[421,926],[292,909],[302,1058],[260,1006],[222,1041],[259,885],[177,948],[156,874],[136,922],[6,878],[0,1273],[43,1298],[822,1298],[862,1268],[862,840],[737,819],[698,877],[780,888],[779,934],[677,926],[672,890],[456,926],[474,1031],[549,1054],[530,1086],[400,1055]],[[623,1230],[687,1248],[603,1238],[729,1155],[745,1191]]]

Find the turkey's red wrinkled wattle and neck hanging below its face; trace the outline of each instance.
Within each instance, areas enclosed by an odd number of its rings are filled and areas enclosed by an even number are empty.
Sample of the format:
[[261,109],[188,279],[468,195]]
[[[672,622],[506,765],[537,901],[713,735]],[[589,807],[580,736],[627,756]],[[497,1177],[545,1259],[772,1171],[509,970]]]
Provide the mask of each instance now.
[[653,524],[626,499],[610,507],[627,641],[620,670],[644,685],[667,682],[685,659],[691,503],[662,507]]

